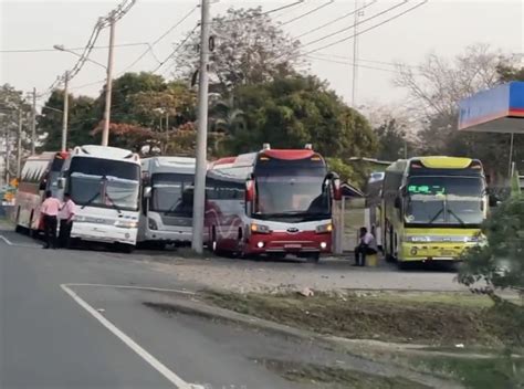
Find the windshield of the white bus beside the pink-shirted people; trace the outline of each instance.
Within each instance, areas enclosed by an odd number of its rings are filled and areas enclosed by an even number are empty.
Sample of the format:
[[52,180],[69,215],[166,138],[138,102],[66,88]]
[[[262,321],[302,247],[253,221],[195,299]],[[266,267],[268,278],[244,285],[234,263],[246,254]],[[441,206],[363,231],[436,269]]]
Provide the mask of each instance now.
[[136,164],[75,157],[70,167],[69,191],[78,206],[136,211],[139,174]]

